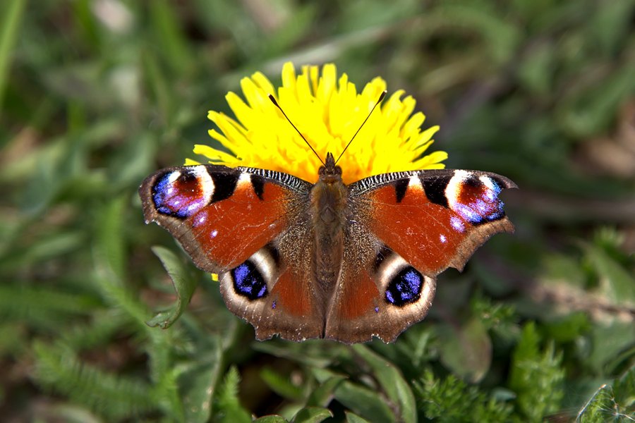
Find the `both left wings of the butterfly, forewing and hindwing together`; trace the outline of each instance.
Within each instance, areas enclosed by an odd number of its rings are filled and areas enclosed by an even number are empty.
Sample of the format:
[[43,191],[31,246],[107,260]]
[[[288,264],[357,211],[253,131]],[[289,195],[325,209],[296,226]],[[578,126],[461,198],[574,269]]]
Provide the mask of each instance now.
[[179,240],[202,270],[219,274],[231,312],[256,338],[321,338],[311,285],[311,184],[274,171],[198,165],[165,168],[139,188],[145,221]]

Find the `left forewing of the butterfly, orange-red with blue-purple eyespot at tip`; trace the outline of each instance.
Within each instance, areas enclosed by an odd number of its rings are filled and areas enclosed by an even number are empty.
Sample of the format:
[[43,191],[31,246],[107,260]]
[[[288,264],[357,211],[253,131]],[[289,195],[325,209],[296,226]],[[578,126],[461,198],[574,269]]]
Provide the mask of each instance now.
[[255,168],[164,168],[139,188],[145,221],[166,228],[199,269],[234,269],[296,219],[310,184]]

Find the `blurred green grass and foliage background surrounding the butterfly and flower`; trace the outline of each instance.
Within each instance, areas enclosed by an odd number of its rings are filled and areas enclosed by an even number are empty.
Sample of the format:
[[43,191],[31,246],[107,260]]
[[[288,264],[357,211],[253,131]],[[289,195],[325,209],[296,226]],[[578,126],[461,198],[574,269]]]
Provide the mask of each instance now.
[[[137,188],[212,144],[254,71],[334,62],[495,171],[514,235],[397,343],[254,341]],[[635,414],[635,1],[4,0],[6,422],[627,422]],[[170,329],[167,268],[199,283]]]

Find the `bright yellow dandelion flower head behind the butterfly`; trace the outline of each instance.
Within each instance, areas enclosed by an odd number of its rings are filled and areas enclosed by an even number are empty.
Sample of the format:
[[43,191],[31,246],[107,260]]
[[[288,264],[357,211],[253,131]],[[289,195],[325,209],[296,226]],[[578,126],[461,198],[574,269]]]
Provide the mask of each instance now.
[[[324,160],[327,152],[337,158],[344,151],[386,89],[386,82],[375,78],[358,94],[346,73],[337,79],[333,64],[323,66],[322,75],[317,66],[303,66],[296,76],[294,66],[286,63],[277,92],[259,72],[243,78],[241,87],[246,102],[234,92],[226,96],[236,120],[215,111],[208,114],[221,131],[210,130],[210,135],[234,155],[207,145],[196,145],[195,154],[206,156],[213,164],[267,168],[315,182],[320,160],[267,95],[274,95]],[[447,153],[423,156],[438,126],[422,131],[425,116],[421,112],[411,116],[415,100],[410,96],[401,99],[403,94],[394,92],[377,106],[344,153],[339,161],[344,183],[378,173],[444,167],[440,162],[447,159]]]

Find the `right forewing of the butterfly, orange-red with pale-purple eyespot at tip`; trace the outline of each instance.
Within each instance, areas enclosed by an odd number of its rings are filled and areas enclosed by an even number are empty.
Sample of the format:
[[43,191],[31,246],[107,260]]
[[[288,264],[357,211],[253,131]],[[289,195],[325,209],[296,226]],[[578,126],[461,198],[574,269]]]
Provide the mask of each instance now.
[[514,232],[504,176],[452,169],[385,173],[349,185],[365,228],[426,276],[467,260],[491,235]]

